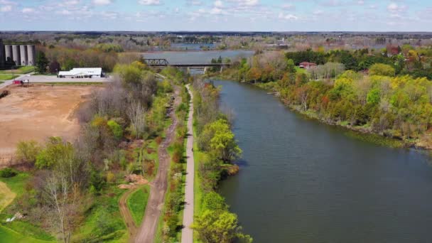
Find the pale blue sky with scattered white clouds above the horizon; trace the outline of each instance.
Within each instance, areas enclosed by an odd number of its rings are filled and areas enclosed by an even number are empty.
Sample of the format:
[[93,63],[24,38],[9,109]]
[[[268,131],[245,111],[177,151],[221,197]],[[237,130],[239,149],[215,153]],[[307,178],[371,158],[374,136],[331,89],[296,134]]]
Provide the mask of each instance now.
[[0,31],[432,31],[432,0],[0,0]]

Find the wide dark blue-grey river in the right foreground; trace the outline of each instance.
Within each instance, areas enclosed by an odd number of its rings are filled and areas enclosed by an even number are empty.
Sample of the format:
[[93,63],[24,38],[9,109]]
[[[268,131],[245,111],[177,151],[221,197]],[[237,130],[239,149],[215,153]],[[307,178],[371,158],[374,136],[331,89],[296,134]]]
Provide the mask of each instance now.
[[346,136],[252,85],[215,85],[243,149],[220,193],[254,242],[432,242],[426,152]]

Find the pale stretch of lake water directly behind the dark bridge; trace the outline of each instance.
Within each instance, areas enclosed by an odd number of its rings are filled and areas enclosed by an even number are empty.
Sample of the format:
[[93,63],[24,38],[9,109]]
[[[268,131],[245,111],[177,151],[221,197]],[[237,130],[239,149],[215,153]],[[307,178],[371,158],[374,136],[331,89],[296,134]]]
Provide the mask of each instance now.
[[212,58],[249,58],[254,55],[253,50],[209,50],[209,51],[161,51],[143,53],[144,58],[161,58],[168,60],[171,64],[201,64],[210,63]]

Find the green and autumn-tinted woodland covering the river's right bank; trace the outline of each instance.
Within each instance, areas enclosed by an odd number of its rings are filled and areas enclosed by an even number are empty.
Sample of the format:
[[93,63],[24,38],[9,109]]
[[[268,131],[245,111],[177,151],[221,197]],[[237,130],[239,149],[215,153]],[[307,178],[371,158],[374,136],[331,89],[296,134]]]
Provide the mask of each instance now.
[[[255,53],[205,77],[250,83],[307,117],[372,134],[362,139],[376,144],[431,150],[432,49],[394,49]],[[299,68],[304,61],[317,65]]]

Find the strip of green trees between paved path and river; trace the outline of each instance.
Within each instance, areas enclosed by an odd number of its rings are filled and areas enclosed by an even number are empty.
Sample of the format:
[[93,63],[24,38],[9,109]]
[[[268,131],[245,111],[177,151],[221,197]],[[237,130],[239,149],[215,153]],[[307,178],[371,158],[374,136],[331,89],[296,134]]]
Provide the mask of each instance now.
[[252,242],[242,233],[237,215],[216,190],[220,180],[239,172],[232,163],[242,150],[231,131],[229,114],[219,108],[220,90],[199,77],[194,80],[195,219],[194,242]]

